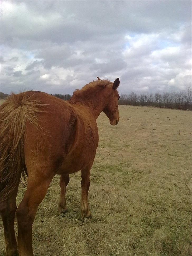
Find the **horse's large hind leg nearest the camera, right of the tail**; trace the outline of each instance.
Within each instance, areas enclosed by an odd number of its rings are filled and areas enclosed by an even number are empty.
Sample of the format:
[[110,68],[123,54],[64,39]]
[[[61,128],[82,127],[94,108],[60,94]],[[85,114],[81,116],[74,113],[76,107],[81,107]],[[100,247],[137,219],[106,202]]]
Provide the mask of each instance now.
[[32,225],[36,211],[47,193],[49,184],[54,177],[45,178],[37,176],[28,178],[25,196],[17,208],[18,224],[18,251],[20,256],[33,256]]

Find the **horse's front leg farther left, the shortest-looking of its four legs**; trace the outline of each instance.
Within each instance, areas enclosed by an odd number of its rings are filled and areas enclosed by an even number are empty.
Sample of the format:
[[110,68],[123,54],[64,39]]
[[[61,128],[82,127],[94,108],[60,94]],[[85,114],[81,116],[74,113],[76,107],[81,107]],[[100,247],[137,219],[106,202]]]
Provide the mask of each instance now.
[[69,174],[61,174],[61,177],[60,177],[61,192],[60,192],[60,197],[58,202],[58,210],[62,213],[65,213],[67,211],[65,193],[66,193],[66,186],[68,183],[69,183]]

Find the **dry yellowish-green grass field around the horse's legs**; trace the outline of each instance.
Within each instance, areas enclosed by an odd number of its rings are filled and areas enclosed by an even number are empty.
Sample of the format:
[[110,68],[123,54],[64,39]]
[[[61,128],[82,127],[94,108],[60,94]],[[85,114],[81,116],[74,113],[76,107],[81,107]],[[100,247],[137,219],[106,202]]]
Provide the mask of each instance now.
[[[119,114],[117,126],[104,113],[97,120],[92,218],[81,218],[80,172],[70,176],[68,212],[57,212],[56,176],[33,224],[34,255],[192,255],[191,111],[119,106]],[[17,205],[24,192],[20,186]]]

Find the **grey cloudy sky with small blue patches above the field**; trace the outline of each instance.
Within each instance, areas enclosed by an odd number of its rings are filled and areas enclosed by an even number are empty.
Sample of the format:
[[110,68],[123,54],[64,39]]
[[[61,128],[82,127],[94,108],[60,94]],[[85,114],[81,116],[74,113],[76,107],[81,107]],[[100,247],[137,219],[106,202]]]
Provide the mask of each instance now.
[[1,1],[1,88],[72,94],[97,76],[120,93],[191,86],[191,0]]

